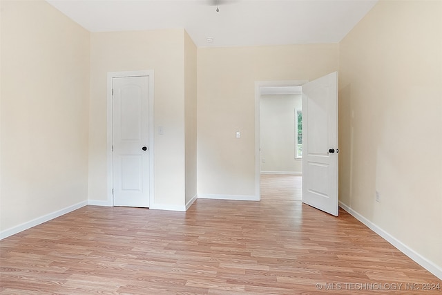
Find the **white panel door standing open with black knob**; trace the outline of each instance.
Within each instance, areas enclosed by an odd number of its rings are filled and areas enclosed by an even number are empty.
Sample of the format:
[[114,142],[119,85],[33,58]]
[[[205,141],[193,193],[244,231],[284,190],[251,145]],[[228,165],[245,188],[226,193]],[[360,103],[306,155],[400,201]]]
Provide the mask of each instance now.
[[302,85],[302,202],[338,216],[338,73]]

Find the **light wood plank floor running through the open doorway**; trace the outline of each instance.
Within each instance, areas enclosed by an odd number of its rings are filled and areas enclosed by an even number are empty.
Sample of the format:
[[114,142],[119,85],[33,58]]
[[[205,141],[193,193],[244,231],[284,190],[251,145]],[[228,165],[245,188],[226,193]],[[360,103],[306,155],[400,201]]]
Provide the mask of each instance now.
[[87,206],[3,239],[0,294],[442,294],[345,211],[273,193],[270,179],[260,202]]

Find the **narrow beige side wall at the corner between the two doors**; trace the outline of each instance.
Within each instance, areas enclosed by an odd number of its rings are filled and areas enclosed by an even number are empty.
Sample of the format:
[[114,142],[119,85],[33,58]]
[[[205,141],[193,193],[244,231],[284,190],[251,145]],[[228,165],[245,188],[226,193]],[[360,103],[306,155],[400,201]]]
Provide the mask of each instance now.
[[184,32],[184,126],[186,149],[186,204],[196,198],[196,65],[197,48]]

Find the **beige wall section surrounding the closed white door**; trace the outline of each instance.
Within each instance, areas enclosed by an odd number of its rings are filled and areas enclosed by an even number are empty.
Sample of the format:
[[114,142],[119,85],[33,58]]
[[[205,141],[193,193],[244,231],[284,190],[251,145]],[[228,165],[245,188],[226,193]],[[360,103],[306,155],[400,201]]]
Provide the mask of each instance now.
[[[154,70],[155,200],[184,207],[184,30],[91,33],[88,198],[107,198],[108,72]],[[164,134],[157,129],[162,126]]]

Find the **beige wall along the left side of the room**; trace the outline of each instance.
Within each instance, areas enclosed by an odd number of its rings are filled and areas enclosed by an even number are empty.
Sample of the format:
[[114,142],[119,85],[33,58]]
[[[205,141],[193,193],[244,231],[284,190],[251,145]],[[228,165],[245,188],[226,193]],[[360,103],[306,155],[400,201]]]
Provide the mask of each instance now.
[[87,201],[89,33],[1,1],[0,231]]

